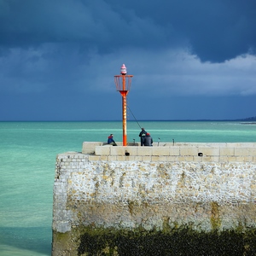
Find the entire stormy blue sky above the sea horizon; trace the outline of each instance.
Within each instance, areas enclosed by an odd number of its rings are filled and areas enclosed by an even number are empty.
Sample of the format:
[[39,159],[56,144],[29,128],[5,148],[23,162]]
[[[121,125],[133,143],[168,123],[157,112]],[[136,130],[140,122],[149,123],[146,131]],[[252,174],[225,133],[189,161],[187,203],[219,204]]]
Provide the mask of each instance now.
[[121,120],[123,63],[138,120],[256,116],[256,1],[0,0],[0,120]]

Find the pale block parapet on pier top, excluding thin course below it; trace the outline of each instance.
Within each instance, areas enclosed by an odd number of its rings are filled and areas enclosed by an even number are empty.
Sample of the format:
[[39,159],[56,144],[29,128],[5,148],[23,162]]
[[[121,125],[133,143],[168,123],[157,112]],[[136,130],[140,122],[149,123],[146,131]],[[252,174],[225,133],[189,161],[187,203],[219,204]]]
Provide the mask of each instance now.
[[[256,155],[256,143],[155,143],[153,147],[128,145],[113,147],[98,142],[84,142],[82,153],[95,155],[176,155],[238,156]],[[201,154],[201,155],[200,155]]]

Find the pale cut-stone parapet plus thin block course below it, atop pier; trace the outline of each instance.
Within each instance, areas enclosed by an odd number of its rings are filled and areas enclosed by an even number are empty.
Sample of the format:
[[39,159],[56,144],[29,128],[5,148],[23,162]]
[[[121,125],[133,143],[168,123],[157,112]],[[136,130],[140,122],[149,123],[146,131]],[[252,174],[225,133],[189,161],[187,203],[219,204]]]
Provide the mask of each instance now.
[[84,142],[83,154],[95,160],[256,161],[256,143],[154,143],[153,147]]

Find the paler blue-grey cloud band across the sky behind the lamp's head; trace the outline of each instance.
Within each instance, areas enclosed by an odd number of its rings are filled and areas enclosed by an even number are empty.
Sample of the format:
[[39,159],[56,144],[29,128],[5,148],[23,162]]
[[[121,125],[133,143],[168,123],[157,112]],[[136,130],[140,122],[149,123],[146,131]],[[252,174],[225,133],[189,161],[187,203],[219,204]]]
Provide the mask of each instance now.
[[113,76],[119,74],[123,62],[134,75],[136,89],[147,88],[154,91],[154,96],[256,93],[254,55],[212,63],[202,62],[183,49],[157,53],[147,49],[125,49],[101,55],[93,49],[81,54],[78,47],[70,50],[67,45],[59,44],[46,44],[37,49],[11,49],[9,55],[0,58],[1,87],[14,93],[68,90],[70,87],[81,91],[111,91]]

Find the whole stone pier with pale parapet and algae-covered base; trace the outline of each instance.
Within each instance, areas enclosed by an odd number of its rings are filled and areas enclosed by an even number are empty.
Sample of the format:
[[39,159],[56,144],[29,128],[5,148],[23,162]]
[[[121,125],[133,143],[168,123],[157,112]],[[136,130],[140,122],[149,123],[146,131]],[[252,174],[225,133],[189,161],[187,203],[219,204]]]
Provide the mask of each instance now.
[[54,256],[254,255],[256,143],[84,142],[57,155],[52,229]]

